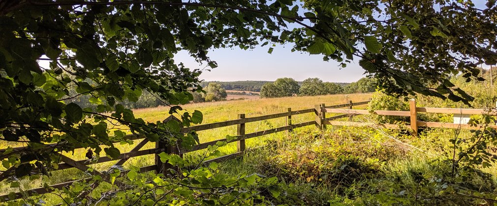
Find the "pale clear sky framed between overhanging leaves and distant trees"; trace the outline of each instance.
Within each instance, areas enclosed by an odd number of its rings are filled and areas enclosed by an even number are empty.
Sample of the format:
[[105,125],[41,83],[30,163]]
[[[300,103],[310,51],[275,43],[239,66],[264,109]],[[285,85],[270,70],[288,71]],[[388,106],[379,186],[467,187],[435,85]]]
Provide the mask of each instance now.
[[[280,77],[291,77],[302,81],[318,77],[328,82],[354,82],[363,77],[364,70],[358,65],[358,59],[341,68],[336,61],[323,61],[322,55],[292,52],[290,45],[277,45],[271,54],[267,53],[268,48],[257,46],[251,51],[239,48],[209,51],[207,55],[218,63],[218,67],[204,71],[200,78],[206,81],[274,81]],[[186,52],[176,54],[175,62],[183,62],[189,68],[205,67]]]

